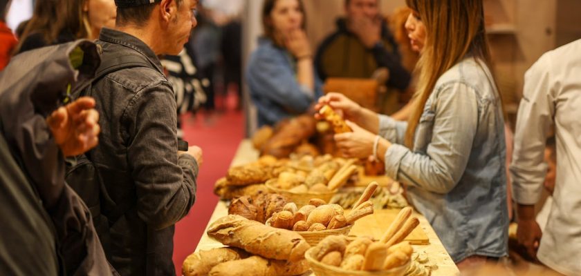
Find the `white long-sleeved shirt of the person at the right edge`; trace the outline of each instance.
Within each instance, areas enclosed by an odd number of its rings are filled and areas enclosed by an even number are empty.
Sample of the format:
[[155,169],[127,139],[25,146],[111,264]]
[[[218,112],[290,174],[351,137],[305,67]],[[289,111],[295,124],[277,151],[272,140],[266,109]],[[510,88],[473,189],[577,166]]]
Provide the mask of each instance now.
[[510,174],[513,197],[535,204],[546,175],[551,126],[557,179],[538,259],[565,275],[581,275],[581,40],[547,52],[525,75]]

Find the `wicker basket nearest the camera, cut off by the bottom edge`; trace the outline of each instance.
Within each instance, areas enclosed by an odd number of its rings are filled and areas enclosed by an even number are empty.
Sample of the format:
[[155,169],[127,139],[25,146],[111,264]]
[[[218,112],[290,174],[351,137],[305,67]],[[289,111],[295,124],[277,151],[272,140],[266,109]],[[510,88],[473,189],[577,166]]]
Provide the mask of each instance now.
[[403,266],[399,266],[396,268],[391,268],[389,270],[382,270],[382,271],[353,271],[353,270],[344,270],[337,266],[329,266],[327,264],[322,264],[321,262],[317,261],[313,257],[313,253],[315,252],[316,248],[312,247],[309,250],[306,250],[304,257],[308,262],[309,266],[317,276],[403,276],[405,275],[405,271],[409,268],[409,265],[412,264],[411,261],[405,263]]

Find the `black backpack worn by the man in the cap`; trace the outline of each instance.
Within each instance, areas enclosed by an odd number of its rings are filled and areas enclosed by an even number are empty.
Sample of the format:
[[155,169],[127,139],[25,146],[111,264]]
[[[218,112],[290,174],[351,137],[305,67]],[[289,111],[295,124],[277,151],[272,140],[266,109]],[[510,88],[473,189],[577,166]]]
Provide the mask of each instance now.
[[[118,55],[103,60],[89,86],[80,88],[80,91],[75,92],[73,96],[90,96],[93,83],[97,83],[112,72],[136,67],[151,68],[151,63],[145,57],[136,55]],[[109,227],[134,206],[135,202],[115,202],[108,196],[98,168],[91,161],[91,151],[66,160],[65,180],[89,207],[103,249],[106,255],[110,256]]]

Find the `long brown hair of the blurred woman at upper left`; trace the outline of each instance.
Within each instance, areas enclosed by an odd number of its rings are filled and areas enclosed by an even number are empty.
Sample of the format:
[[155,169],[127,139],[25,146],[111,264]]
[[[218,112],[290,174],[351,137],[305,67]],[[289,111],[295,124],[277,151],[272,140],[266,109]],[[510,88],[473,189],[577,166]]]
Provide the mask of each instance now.
[[55,43],[63,30],[70,31],[77,39],[90,37],[91,28],[83,12],[86,0],[37,1],[33,17],[26,24],[17,51],[28,35],[38,32],[46,44]]

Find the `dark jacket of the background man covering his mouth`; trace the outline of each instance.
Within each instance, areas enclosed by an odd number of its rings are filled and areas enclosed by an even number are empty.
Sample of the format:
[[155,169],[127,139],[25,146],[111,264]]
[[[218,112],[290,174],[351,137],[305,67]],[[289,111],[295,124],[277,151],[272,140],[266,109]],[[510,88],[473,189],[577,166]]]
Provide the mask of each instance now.
[[328,77],[370,78],[378,68],[389,69],[387,86],[405,90],[411,75],[401,65],[397,43],[382,23],[383,46],[367,48],[347,29],[346,19],[337,20],[337,31],[317,49],[315,66],[321,79]]

